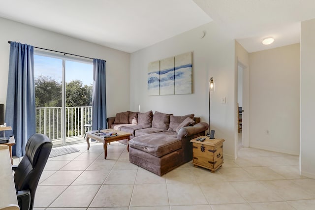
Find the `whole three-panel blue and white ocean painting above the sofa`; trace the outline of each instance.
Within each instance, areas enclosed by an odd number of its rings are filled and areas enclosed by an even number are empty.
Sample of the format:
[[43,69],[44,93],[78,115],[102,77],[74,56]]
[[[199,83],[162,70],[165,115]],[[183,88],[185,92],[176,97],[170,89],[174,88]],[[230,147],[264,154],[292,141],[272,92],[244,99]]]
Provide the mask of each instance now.
[[192,93],[192,53],[150,62],[148,66],[149,95]]

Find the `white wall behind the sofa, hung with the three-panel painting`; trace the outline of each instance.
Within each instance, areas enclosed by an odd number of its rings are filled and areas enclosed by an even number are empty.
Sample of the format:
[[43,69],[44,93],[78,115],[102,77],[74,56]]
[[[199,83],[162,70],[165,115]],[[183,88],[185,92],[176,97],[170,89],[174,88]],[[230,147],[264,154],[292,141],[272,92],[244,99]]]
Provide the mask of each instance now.
[[[200,38],[206,31],[204,38]],[[213,77],[215,91],[211,93],[211,129],[216,138],[223,138],[225,157],[234,158],[234,40],[225,37],[215,23],[162,41],[131,54],[130,57],[130,109],[149,110],[174,115],[193,113],[208,122],[208,82]],[[149,96],[147,91],[148,63],[155,60],[192,52],[193,93],[184,95]],[[221,98],[226,103],[221,104]]]

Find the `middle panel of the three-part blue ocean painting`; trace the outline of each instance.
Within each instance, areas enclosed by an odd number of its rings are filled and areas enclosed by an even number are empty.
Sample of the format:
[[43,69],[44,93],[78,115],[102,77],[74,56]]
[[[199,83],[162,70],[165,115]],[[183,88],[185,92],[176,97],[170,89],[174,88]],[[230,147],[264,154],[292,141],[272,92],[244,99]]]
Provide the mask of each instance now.
[[174,95],[174,57],[160,60],[160,95]]

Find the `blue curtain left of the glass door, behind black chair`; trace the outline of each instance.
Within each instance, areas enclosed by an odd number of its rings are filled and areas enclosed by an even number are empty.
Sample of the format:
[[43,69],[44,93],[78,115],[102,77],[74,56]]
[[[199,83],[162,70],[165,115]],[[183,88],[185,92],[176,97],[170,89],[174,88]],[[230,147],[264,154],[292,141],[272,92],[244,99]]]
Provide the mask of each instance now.
[[15,138],[12,153],[25,155],[28,139],[36,132],[33,46],[11,42],[5,122]]

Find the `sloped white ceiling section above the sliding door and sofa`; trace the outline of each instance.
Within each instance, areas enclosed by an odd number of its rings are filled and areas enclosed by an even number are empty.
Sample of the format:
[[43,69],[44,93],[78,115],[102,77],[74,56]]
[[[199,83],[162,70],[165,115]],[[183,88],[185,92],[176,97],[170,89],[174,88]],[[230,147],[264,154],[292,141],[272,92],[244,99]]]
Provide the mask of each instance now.
[[0,17],[128,53],[211,21],[192,0],[1,0]]

